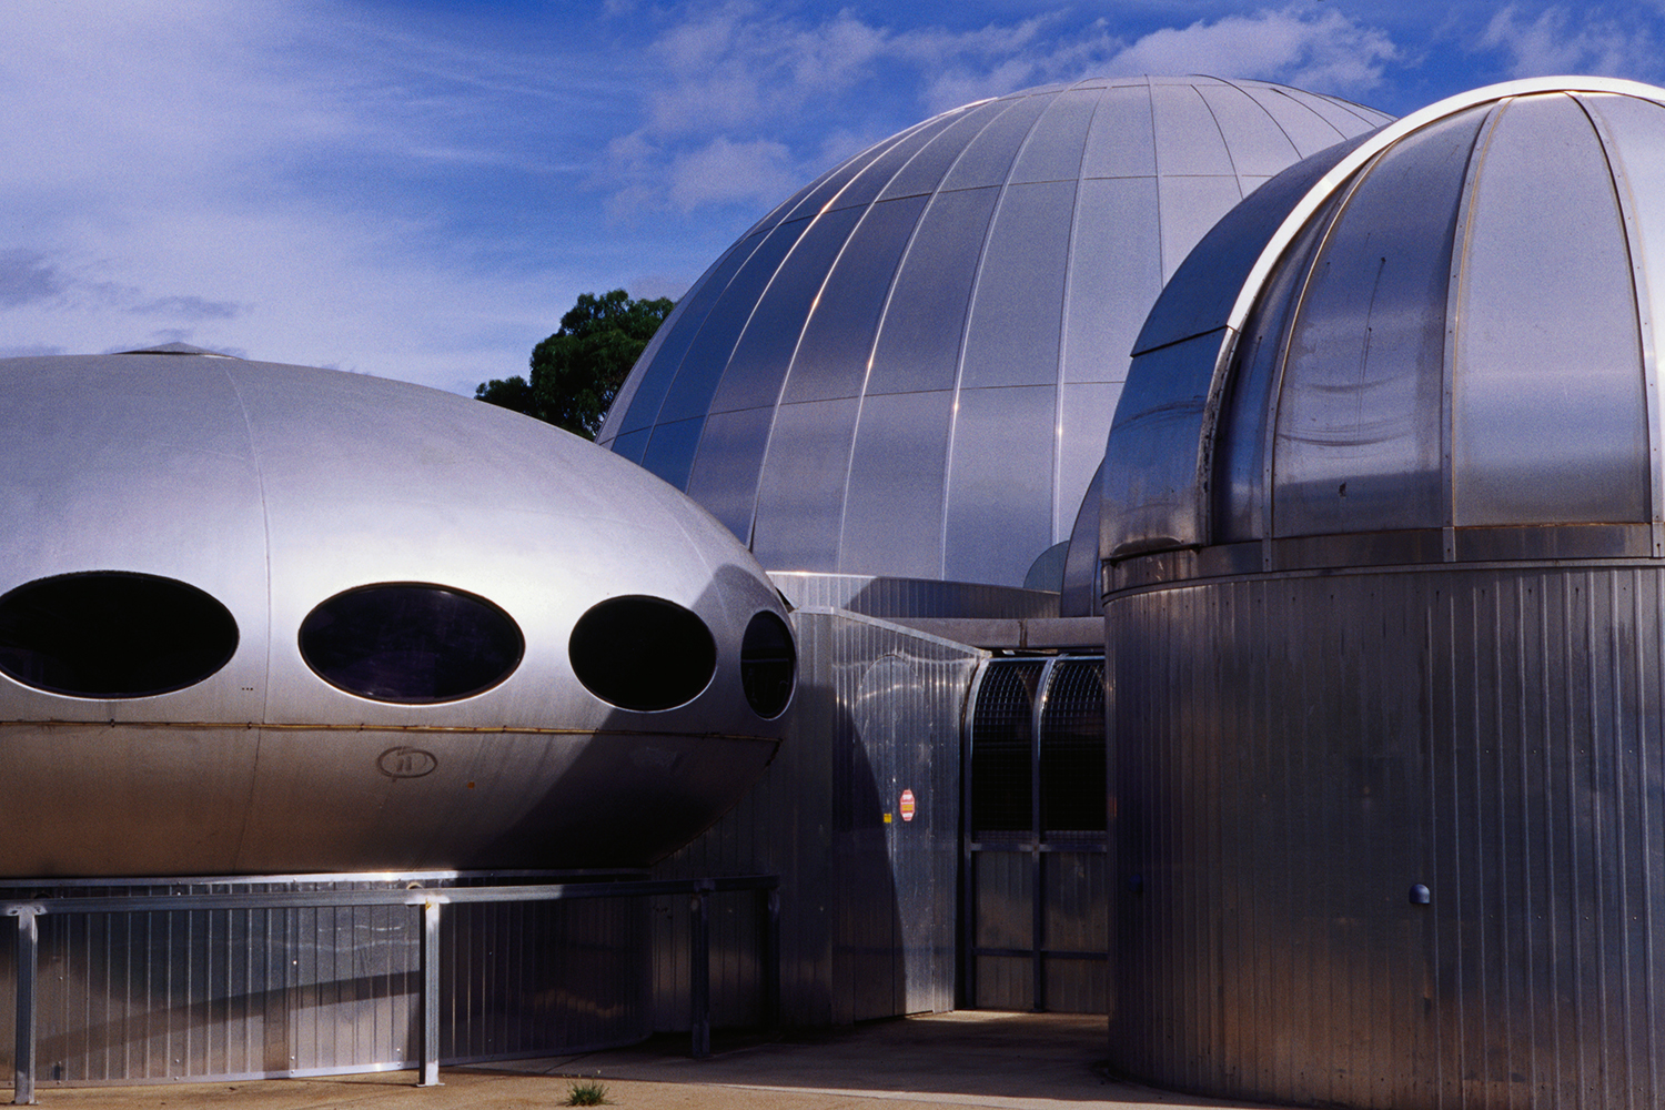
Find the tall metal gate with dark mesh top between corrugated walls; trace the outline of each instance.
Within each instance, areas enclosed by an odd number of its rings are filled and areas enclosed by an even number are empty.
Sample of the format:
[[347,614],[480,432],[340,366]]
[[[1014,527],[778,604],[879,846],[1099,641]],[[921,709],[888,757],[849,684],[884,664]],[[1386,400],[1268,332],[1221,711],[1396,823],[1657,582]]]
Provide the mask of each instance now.
[[964,767],[964,1005],[1106,1012],[1104,659],[984,664]]

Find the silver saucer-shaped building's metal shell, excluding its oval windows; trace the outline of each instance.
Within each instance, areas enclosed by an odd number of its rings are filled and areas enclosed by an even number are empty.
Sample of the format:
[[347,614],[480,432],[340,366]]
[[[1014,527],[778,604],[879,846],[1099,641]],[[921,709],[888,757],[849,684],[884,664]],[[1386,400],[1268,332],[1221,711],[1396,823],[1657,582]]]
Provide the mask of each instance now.
[[[152,697],[0,677],[0,874],[643,865],[733,804],[786,729],[741,687],[748,621],[786,612],[761,569],[573,436],[405,383],[175,353],[5,359],[0,394],[0,594],[162,576],[240,634],[218,672]],[[483,597],[524,656],[463,701],[338,689],[298,629],[375,582]],[[694,701],[631,712],[574,679],[574,621],[619,594],[709,627]]]

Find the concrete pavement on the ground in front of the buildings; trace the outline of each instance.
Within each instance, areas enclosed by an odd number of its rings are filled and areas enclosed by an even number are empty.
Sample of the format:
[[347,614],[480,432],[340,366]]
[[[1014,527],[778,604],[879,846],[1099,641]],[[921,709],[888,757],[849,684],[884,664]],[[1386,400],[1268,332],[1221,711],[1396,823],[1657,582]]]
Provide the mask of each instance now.
[[574,1080],[599,1080],[631,1110],[1142,1110],[1254,1107],[1109,1078],[1104,1017],[966,1010],[779,1038],[718,1040],[691,1060],[686,1037],[656,1037],[546,1060],[236,1083],[37,1088],[60,1110],[521,1110],[559,1107]]

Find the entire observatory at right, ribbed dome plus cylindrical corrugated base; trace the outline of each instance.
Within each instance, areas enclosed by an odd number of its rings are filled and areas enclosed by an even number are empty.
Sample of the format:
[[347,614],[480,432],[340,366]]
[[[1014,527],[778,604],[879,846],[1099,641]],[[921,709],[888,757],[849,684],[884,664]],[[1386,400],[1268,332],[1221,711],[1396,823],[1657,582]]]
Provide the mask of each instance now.
[[1116,1063],[1665,1095],[1665,90],[1457,97],[1180,266],[1104,468]]

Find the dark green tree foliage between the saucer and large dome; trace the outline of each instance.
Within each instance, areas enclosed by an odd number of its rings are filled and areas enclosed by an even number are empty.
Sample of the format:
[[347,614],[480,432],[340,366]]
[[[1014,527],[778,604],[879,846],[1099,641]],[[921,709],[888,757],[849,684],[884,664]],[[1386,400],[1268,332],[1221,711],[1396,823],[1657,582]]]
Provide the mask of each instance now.
[[528,376],[481,383],[475,398],[594,439],[624,376],[671,308],[663,296],[633,301],[624,290],[581,293],[561,316],[561,330],[533,348]]

